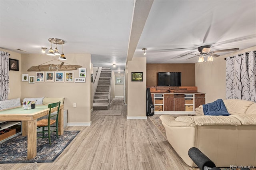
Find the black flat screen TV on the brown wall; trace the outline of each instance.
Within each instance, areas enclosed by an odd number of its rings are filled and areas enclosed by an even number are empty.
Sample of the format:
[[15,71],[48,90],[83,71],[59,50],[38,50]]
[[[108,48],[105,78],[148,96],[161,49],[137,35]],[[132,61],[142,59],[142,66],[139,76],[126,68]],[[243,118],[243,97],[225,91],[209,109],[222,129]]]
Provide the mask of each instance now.
[[158,86],[181,86],[181,72],[158,72]]

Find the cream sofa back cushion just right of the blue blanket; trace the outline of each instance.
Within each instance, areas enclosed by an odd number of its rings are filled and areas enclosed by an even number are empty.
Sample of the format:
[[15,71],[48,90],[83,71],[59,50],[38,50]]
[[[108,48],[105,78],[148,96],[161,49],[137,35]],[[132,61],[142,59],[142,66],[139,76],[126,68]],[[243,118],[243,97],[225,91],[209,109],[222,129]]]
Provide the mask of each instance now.
[[240,100],[240,99],[226,99],[223,100],[226,109],[230,115],[245,114],[248,107],[254,104],[253,101]]

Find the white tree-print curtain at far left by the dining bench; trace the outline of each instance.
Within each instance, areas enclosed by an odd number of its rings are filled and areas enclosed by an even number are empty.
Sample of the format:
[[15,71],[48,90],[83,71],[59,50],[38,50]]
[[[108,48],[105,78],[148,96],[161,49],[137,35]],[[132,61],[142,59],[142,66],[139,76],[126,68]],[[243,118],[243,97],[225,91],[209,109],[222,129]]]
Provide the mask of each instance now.
[[6,100],[8,98],[9,89],[9,53],[0,51],[0,101]]

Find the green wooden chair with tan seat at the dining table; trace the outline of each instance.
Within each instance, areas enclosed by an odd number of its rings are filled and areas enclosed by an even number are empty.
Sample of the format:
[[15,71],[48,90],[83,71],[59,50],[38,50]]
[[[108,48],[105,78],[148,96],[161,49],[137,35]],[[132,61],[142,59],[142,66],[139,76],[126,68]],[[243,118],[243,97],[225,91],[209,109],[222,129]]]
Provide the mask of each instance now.
[[[58,107],[58,111],[57,113],[51,115],[51,109],[54,107]],[[37,128],[41,128],[42,127],[42,131],[37,131],[38,133],[42,133],[42,136],[39,136],[37,138],[48,138],[49,139],[49,143],[51,145],[51,133],[52,132],[56,132],[57,138],[59,138],[58,136],[58,116],[59,116],[59,110],[60,110],[60,101],[57,103],[50,103],[48,105],[49,110],[49,115],[48,115],[48,119],[41,119],[39,121],[37,121],[36,126]],[[56,117],[55,119],[51,119],[52,117]],[[56,123],[54,125],[54,123]],[[44,130],[44,128],[47,127],[47,130]],[[53,127],[51,129],[51,127]],[[48,132],[48,136],[44,136],[44,132]]]

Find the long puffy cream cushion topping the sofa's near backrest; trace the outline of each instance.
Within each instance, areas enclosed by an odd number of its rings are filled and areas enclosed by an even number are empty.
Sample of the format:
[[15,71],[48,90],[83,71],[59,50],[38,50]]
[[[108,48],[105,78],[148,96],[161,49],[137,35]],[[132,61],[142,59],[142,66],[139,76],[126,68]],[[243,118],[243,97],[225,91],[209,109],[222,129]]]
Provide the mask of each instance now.
[[230,116],[179,116],[175,121],[194,123],[198,126],[241,125],[238,119]]

